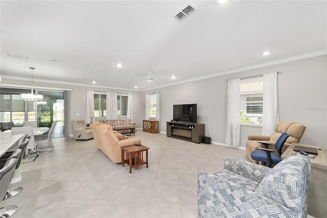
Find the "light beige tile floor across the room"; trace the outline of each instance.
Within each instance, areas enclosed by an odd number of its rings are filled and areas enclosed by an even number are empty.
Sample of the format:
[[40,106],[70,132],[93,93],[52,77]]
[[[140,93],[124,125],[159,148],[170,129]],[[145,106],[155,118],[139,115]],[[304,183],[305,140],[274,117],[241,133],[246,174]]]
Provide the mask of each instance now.
[[196,144],[138,130],[149,149],[149,168],[112,163],[94,139],[53,139],[51,155],[21,164],[24,190],[3,201],[17,217],[198,217],[197,173],[213,173],[226,157],[245,150]]

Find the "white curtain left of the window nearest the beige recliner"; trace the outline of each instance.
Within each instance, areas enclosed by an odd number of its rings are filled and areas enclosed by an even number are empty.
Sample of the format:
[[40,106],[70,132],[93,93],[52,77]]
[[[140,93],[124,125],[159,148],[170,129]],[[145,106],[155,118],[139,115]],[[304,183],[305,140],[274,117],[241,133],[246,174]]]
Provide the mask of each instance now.
[[240,79],[230,79],[227,84],[226,144],[240,146]]

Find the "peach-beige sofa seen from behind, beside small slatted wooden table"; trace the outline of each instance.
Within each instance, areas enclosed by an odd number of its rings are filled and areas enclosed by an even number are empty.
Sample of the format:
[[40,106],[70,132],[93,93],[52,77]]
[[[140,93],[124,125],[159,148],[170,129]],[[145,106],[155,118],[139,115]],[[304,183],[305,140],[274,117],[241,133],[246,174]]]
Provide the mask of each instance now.
[[114,133],[110,125],[92,123],[90,127],[95,136],[95,142],[105,155],[107,155],[113,163],[122,163],[122,149],[123,146],[141,144],[141,139],[129,139],[128,137],[121,140],[117,136],[120,133]]

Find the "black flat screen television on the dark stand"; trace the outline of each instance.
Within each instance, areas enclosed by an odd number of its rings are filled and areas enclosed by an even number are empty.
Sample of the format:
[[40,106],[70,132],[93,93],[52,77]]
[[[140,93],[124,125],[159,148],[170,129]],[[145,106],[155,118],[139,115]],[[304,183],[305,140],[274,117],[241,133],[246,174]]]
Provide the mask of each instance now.
[[173,120],[196,123],[196,104],[174,104]]

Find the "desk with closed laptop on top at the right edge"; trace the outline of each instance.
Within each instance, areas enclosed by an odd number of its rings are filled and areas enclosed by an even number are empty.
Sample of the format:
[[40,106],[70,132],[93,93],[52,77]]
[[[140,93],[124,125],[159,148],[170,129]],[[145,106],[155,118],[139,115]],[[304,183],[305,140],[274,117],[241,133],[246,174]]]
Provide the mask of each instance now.
[[[307,152],[307,157],[309,157],[311,162],[311,177],[308,189],[308,214],[316,218],[326,217],[327,148],[324,146],[292,143],[281,158],[284,160],[289,157],[303,156],[299,155],[300,151]],[[317,155],[314,154],[315,152],[317,152]]]

